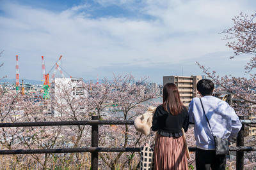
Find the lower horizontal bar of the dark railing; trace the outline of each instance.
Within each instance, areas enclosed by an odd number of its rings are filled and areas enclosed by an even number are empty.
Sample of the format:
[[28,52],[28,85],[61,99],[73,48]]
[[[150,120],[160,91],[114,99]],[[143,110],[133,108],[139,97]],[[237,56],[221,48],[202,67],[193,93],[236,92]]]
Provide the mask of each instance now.
[[[189,152],[195,152],[196,148],[189,148]],[[230,146],[229,151],[256,151],[256,147],[250,146]],[[140,148],[56,148],[56,149],[38,149],[38,150],[0,150],[0,155],[17,154],[40,154],[40,153],[79,153],[79,152],[140,152]]]

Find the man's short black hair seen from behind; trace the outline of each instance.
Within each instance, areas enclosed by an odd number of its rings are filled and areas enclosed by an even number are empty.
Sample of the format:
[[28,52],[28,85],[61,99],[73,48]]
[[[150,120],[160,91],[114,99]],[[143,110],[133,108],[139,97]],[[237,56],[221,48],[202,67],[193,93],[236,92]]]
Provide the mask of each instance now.
[[202,96],[212,95],[214,83],[209,79],[202,79],[196,84],[196,89],[200,94],[202,94]]

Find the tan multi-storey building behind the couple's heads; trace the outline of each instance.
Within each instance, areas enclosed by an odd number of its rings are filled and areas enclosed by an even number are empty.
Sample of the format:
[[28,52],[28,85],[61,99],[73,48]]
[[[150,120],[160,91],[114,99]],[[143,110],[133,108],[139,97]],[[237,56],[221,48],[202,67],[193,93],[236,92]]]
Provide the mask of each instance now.
[[174,83],[180,92],[180,100],[184,106],[188,106],[193,97],[198,94],[196,83],[202,79],[202,76],[164,76],[163,85]]

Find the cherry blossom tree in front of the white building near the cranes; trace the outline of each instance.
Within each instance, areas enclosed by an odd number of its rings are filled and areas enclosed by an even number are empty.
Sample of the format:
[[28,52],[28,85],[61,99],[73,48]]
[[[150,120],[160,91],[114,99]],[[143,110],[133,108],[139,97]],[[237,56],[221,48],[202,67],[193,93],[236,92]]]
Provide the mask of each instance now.
[[[67,120],[90,120],[91,115],[87,111],[88,91],[82,80],[65,82],[55,81],[51,90],[51,108],[54,110],[54,117],[58,121]],[[58,147],[81,148],[90,146],[90,125],[74,125],[61,127],[61,138]],[[83,166],[81,157],[88,157],[89,153],[65,153],[55,154],[63,167]],[[89,168],[89,167],[88,167]]]

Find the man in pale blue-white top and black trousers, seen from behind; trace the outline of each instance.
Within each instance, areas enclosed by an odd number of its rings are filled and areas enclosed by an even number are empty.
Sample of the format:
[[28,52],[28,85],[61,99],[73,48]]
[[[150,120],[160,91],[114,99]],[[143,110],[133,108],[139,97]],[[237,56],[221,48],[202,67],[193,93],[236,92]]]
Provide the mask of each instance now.
[[242,124],[233,108],[225,101],[212,96],[214,83],[211,80],[198,81],[196,89],[201,96],[205,110],[204,113],[198,97],[193,98],[189,104],[189,122],[195,123],[196,169],[225,170],[226,156],[216,155],[212,133],[219,138],[230,139],[237,136]]

